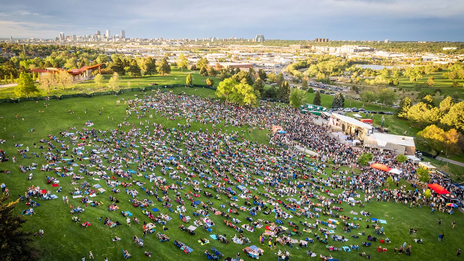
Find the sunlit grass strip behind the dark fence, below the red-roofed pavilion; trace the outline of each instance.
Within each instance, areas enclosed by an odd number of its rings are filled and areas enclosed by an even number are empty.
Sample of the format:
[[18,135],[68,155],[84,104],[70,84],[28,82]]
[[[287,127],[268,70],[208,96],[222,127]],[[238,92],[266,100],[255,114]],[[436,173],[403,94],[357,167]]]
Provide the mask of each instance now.
[[[128,89],[137,88],[137,87],[146,87],[150,83],[157,83],[160,86],[163,85],[173,85],[173,84],[185,84],[187,74],[192,73],[193,84],[206,85],[204,80],[206,78],[212,78],[214,80],[214,86],[219,84],[219,79],[216,77],[203,77],[200,76],[199,71],[190,71],[184,69],[183,72],[178,67],[171,67],[172,71],[169,75],[162,76],[161,74],[153,76],[142,76],[142,77],[130,77],[128,75],[121,77],[121,85],[119,89]],[[47,94],[47,90],[41,87],[39,84],[37,88],[39,93],[34,94],[33,96],[48,96],[48,95],[62,95],[62,94],[74,94],[74,93],[92,93],[98,91],[112,91],[113,88],[107,86],[108,81],[111,78],[111,75],[103,75],[104,83],[98,87],[94,80],[86,80],[84,83],[74,83],[69,87],[66,87],[64,90],[60,85],[53,85],[51,89],[51,94]],[[56,89],[55,89],[56,88]],[[15,98],[14,87],[5,87],[0,88],[0,98]]]

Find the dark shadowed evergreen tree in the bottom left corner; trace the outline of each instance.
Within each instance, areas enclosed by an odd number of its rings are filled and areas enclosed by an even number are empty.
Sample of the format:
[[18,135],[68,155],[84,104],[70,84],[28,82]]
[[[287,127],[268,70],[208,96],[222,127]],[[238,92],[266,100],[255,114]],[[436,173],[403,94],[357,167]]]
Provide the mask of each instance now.
[[8,196],[3,194],[0,198],[0,252],[2,260],[29,261],[38,260],[33,256],[36,251],[31,246],[31,233],[22,228],[26,222],[22,216],[15,214],[15,208],[19,205],[19,199],[8,202]]

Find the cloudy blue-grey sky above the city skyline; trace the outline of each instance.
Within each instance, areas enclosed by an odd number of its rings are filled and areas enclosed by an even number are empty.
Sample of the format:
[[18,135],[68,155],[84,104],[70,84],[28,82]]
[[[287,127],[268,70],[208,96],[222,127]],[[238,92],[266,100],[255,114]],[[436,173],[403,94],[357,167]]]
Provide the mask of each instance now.
[[463,0],[1,0],[0,37],[464,41]]

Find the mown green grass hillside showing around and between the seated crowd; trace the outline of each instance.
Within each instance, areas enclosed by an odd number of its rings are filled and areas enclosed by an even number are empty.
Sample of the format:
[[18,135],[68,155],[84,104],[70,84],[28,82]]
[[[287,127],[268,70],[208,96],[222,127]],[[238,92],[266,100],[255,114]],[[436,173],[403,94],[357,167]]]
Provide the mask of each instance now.
[[[196,78],[196,77],[194,77]],[[169,91],[170,89],[168,89]],[[208,95],[214,96],[214,92],[209,89],[199,89],[195,90],[194,88],[180,88],[176,87],[173,90],[174,92],[186,91],[188,94],[202,95],[206,97]],[[29,165],[32,162],[36,162],[39,166],[44,163],[42,157],[32,158],[32,159],[23,159],[19,158],[18,163],[14,164],[11,160],[13,156],[19,156],[16,153],[16,149],[13,145],[15,143],[24,144],[22,148],[29,146],[32,151],[39,152],[39,149],[34,149],[32,144],[39,144],[40,138],[46,138],[47,134],[58,135],[59,136],[59,127],[77,127],[77,130],[81,130],[84,126],[84,122],[87,120],[94,121],[95,125],[93,128],[106,130],[114,129],[116,125],[121,123],[126,116],[125,110],[126,107],[123,104],[119,107],[115,107],[116,99],[120,98],[134,98],[135,94],[140,94],[140,92],[128,92],[118,97],[111,95],[108,96],[99,96],[92,98],[70,98],[63,100],[49,100],[47,101],[48,107],[44,108],[43,103],[35,102],[21,102],[18,104],[4,103],[0,104],[0,111],[3,118],[0,119],[0,139],[6,139],[5,144],[0,144],[0,149],[6,150],[10,156],[10,161],[6,163],[1,163],[1,169],[12,170],[11,174],[0,174],[0,182],[4,182],[6,187],[10,189],[11,199],[15,199],[17,195],[24,195],[27,186],[35,185],[40,186],[42,189],[52,189],[53,194],[58,196],[58,199],[51,201],[41,201],[38,200],[42,205],[38,208],[35,208],[37,215],[25,216],[27,222],[24,225],[24,229],[31,232],[38,232],[39,229],[45,231],[43,238],[33,238],[33,243],[36,245],[41,252],[41,260],[43,261],[55,261],[55,260],[70,260],[70,261],[80,261],[82,256],[85,256],[88,260],[88,253],[92,251],[96,260],[103,261],[104,257],[108,257],[110,261],[119,261],[123,260],[122,249],[127,249],[130,254],[132,254],[131,260],[145,260],[146,257],[143,254],[143,251],[153,250],[152,259],[157,261],[175,261],[181,259],[187,260],[206,260],[206,256],[203,255],[206,249],[210,250],[211,247],[216,247],[221,251],[225,256],[234,257],[237,252],[241,253],[241,257],[247,260],[251,258],[246,257],[245,254],[241,251],[244,248],[244,245],[234,244],[232,241],[229,244],[220,243],[219,241],[211,241],[205,246],[201,246],[197,240],[200,237],[209,238],[209,233],[203,231],[202,228],[196,230],[197,235],[188,235],[185,232],[182,232],[177,226],[180,223],[179,217],[175,213],[169,212],[167,209],[162,208],[160,202],[155,202],[154,206],[150,208],[158,208],[162,213],[168,213],[173,220],[168,222],[166,225],[167,228],[170,228],[165,232],[170,238],[171,241],[160,242],[155,238],[155,235],[147,235],[144,243],[145,247],[141,248],[135,245],[132,242],[132,236],[137,235],[142,238],[142,222],[150,222],[147,216],[142,214],[140,208],[134,208],[129,202],[131,196],[127,195],[123,191],[120,194],[116,194],[116,197],[120,200],[118,204],[120,210],[126,211],[129,210],[134,214],[135,217],[140,219],[141,224],[135,225],[132,224],[131,227],[128,227],[125,224],[125,218],[118,211],[110,212],[107,210],[107,206],[111,203],[108,200],[109,195],[114,195],[110,188],[106,187],[103,181],[96,182],[91,180],[90,177],[85,176],[85,180],[89,181],[90,184],[100,183],[104,189],[107,189],[103,194],[97,195],[97,197],[91,198],[93,200],[102,201],[103,206],[99,207],[89,207],[85,209],[84,213],[79,214],[82,222],[91,222],[92,225],[89,228],[81,228],[78,224],[71,221],[72,215],[69,214],[69,206],[64,204],[61,200],[62,195],[69,195],[66,192],[71,191],[74,185],[71,185],[71,177],[61,177],[60,186],[63,186],[62,193],[55,193],[55,188],[52,188],[51,185],[46,184],[46,176],[56,176],[52,172],[42,172],[40,170],[33,171],[34,179],[32,181],[27,180],[27,175],[29,172],[22,173],[19,171],[19,164]],[[328,98],[331,98],[327,95],[323,95],[323,105],[328,102]],[[312,100],[312,99],[311,99]],[[353,104],[352,106],[356,106]],[[84,111],[87,109],[86,113]],[[69,114],[68,110],[72,110],[75,113]],[[102,111],[102,115],[98,115],[98,110]],[[44,111],[43,113],[40,111]],[[19,118],[15,116],[19,115]],[[22,120],[24,118],[24,121]],[[114,120],[112,120],[112,118]],[[163,124],[165,127],[177,127],[177,121],[169,121],[164,117],[159,117],[154,115],[153,120],[156,123]],[[139,124],[139,120],[135,118],[135,115],[132,115],[128,118],[129,123]],[[200,127],[204,127],[198,123],[193,123],[191,131],[198,130]],[[208,124],[208,127],[211,129],[211,125]],[[34,128],[35,132],[28,132],[30,128]],[[123,131],[129,130],[129,126],[123,126]],[[227,128],[227,131],[235,131],[238,128]],[[266,134],[267,131],[252,131],[251,135],[246,134],[245,138],[249,140],[257,140],[260,143],[267,143]],[[15,139],[13,139],[13,134],[15,134]],[[84,161],[84,163],[88,163]],[[135,167],[135,165],[129,165],[129,168]],[[330,166],[329,166],[330,167]],[[76,169],[77,167],[75,167]],[[159,169],[156,169],[156,172],[159,173]],[[331,173],[331,169],[326,169],[327,173]],[[168,181],[171,181],[166,177]],[[148,180],[143,177],[139,177],[138,180],[142,182],[148,182]],[[401,183],[404,183],[402,181]],[[410,188],[408,186],[408,188]],[[188,187],[182,192],[187,192]],[[123,189],[122,189],[123,190]],[[213,190],[205,189],[206,191],[213,192]],[[258,190],[264,192],[263,186],[259,186]],[[332,191],[334,194],[342,192]],[[173,193],[173,192],[171,192]],[[172,196],[172,194],[170,194]],[[215,193],[213,193],[215,195]],[[146,196],[141,193],[138,198],[143,199]],[[361,193],[361,198],[363,194]],[[154,199],[153,196],[150,196],[150,199]],[[285,201],[284,198],[281,198]],[[205,196],[200,196],[198,198],[200,201],[206,202]],[[225,203],[225,199],[215,200],[213,199],[214,206],[219,208],[219,204]],[[239,198],[238,205],[243,205],[244,200]],[[70,197],[70,203],[74,206],[81,205],[79,199],[72,199]],[[173,208],[176,204],[174,202]],[[360,212],[361,208],[358,206],[348,207],[346,203],[341,205],[344,207],[344,211],[341,214],[348,215],[353,217],[354,215],[349,214],[349,211],[352,209],[354,211]],[[24,203],[20,203],[17,213],[20,215],[20,211],[24,208]],[[186,204],[187,215],[191,214],[195,209],[189,206],[189,203]],[[409,207],[404,206],[401,203],[393,202],[371,202],[366,204],[366,207],[363,208],[365,211],[372,213],[371,217],[385,219],[387,224],[383,224],[383,227],[386,231],[386,236],[393,242],[390,245],[387,245],[388,251],[385,254],[380,254],[377,252],[377,246],[380,245],[379,242],[373,242],[372,247],[365,248],[361,246],[362,241],[366,241],[366,237],[361,236],[359,239],[354,239],[349,237],[350,234],[343,233],[342,226],[339,226],[336,230],[336,234],[344,235],[349,239],[348,242],[341,243],[335,241],[329,241],[329,244],[335,245],[336,247],[348,246],[350,244],[360,245],[360,251],[352,250],[349,253],[345,252],[334,252],[330,253],[329,250],[325,247],[325,244],[315,242],[314,244],[309,244],[308,248],[299,249],[297,245],[293,248],[288,246],[277,246],[277,250],[269,250],[265,246],[259,245],[258,239],[260,233],[264,232],[264,228],[257,229],[257,232],[247,232],[245,231],[245,237],[249,237],[252,241],[252,244],[257,245],[264,249],[264,256],[260,259],[264,260],[277,260],[277,255],[275,254],[278,249],[286,249],[290,252],[290,260],[308,260],[306,256],[306,250],[315,251],[318,255],[329,255],[331,254],[335,259],[340,260],[350,260],[350,261],[360,261],[365,258],[361,258],[358,253],[366,252],[373,256],[373,259],[376,260],[393,260],[400,261],[405,258],[408,260],[422,261],[422,260],[432,260],[432,261],[442,261],[442,260],[457,260],[456,250],[458,247],[462,247],[461,235],[464,232],[464,225],[462,221],[464,220],[464,215],[462,213],[455,213],[454,215],[445,215],[443,213],[436,213],[435,215],[429,214],[430,210],[427,207],[422,209],[409,209]],[[245,216],[249,213],[240,212],[237,216],[238,219],[242,221],[241,224],[247,223]],[[123,223],[120,227],[108,228],[103,225],[101,221],[98,221],[97,217],[110,217],[113,221],[119,221]],[[192,215],[191,215],[192,216]],[[192,216],[193,217],[193,216]],[[229,239],[232,239],[232,236],[236,233],[232,228],[227,228],[223,224],[223,218],[218,215],[210,216],[211,219],[216,223],[216,226],[213,227],[213,233],[215,234],[226,234]],[[438,218],[442,219],[441,227],[438,227]],[[194,217],[193,217],[194,219]],[[254,219],[268,219],[274,220],[273,215],[264,215],[259,213]],[[328,216],[321,216],[322,220],[327,220]],[[291,219],[293,222],[305,220],[303,218],[294,217]],[[456,228],[451,229],[451,222],[456,220],[458,225]],[[340,220],[341,221],[341,220]],[[189,225],[193,221],[189,222]],[[311,220],[309,222],[314,222]],[[361,228],[359,230],[354,229],[352,234],[356,234],[361,231],[365,231],[366,235],[374,235],[373,228],[365,228],[365,226],[370,222],[362,221],[359,222]],[[184,223],[185,224],[185,223]],[[287,226],[284,224],[284,226]],[[321,227],[322,225],[320,225]],[[413,242],[413,237],[409,235],[409,228],[417,228],[419,230],[417,238],[424,239],[423,244],[417,244]],[[161,226],[157,226],[156,232],[161,230]],[[300,231],[302,228],[300,228]],[[438,233],[445,233],[447,240],[445,242],[438,242]],[[313,233],[314,234],[314,233]],[[318,233],[320,234],[320,233]],[[119,236],[122,238],[121,241],[113,242],[111,238],[114,236]],[[312,234],[303,232],[303,236],[296,236],[295,239],[300,240],[305,237],[313,237]],[[379,236],[379,238],[381,238]],[[174,240],[179,240],[187,244],[187,246],[194,249],[190,254],[184,254],[179,248],[176,248],[173,244]],[[408,257],[406,255],[393,254],[393,248],[395,246],[402,245],[403,242],[412,244],[412,256]],[[315,260],[319,260],[319,257],[316,257]]]

